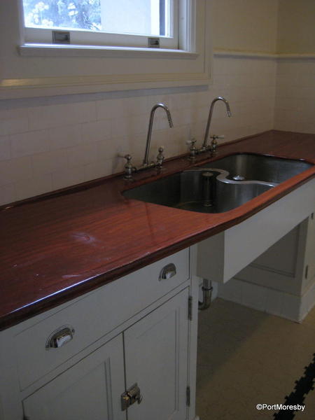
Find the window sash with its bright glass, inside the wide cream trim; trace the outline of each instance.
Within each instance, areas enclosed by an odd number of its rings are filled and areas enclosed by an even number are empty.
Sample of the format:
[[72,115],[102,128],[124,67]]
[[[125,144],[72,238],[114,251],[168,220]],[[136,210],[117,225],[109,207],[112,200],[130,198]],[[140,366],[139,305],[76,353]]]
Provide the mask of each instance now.
[[70,43],[181,49],[180,0],[22,0],[25,43],[51,44],[53,31]]

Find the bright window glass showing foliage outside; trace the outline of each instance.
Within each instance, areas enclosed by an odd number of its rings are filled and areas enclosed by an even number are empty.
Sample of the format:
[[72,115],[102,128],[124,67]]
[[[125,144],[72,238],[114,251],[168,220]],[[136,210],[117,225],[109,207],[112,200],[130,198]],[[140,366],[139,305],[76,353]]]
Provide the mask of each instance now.
[[170,36],[171,0],[23,0],[25,26]]

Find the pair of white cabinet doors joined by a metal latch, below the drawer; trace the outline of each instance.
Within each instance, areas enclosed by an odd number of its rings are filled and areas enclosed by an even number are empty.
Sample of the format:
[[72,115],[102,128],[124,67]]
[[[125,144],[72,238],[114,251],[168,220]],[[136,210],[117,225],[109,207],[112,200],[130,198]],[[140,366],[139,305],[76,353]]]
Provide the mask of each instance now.
[[[186,419],[188,296],[186,288],[31,394],[23,401],[25,417]],[[121,395],[135,383],[141,403],[123,410]]]

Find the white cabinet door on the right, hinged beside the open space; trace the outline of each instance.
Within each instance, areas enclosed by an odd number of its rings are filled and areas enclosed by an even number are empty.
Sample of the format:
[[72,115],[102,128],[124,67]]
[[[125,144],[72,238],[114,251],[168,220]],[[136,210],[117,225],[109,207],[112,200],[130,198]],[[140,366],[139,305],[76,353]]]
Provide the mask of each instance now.
[[143,400],[128,420],[186,419],[188,288],[124,332],[127,388],[137,383]]

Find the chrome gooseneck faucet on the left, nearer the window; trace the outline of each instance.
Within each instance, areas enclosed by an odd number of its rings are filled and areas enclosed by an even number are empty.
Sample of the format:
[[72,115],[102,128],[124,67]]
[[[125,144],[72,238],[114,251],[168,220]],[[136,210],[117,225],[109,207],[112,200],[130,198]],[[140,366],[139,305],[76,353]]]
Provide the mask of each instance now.
[[169,121],[169,127],[171,128],[174,127],[172,116],[167,106],[165,104],[160,104],[160,103],[155,104],[153,108],[151,109],[150,120],[149,120],[149,125],[148,125],[148,134],[146,136],[146,151],[144,152],[144,161],[141,167],[137,168],[137,167],[132,166],[132,163],[131,163],[132,157],[130,155],[125,155],[125,156],[119,155],[120,158],[125,158],[127,160],[126,165],[125,165],[124,179],[128,179],[128,180],[132,179],[133,172],[139,172],[144,169],[150,169],[154,167],[158,167],[159,169],[162,168],[162,164],[165,160],[165,157],[163,156],[164,148],[162,146],[159,147],[159,153],[158,153],[158,156],[156,157],[156,162],[150,162],[150,163],[148,162],[148,154],[150,151],[154,114],[155,114],[155,110],[158,108],[162,108],[165,110],[165,112],[167,113],[167,120]]

